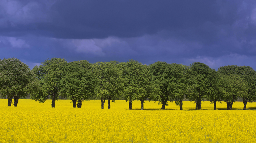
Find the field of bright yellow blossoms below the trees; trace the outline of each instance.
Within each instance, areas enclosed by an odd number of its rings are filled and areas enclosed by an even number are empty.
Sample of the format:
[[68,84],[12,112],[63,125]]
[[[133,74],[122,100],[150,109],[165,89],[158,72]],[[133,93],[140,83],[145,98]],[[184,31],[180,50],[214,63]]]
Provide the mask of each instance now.
[[[19,100],[18,107],[7,107],[7,99],[0,99],[1,143],[205,143],[256,142],[256,103],[235,102],[226,111],[225,102],[202,102],[202,110],[193,110],[195,103],[185,101],[183,111],[175,103],[166,110],[145,101],[111,102],[111,109],[101,109],[101,101],[90,100],[82,108],[72,108],[70,100],[58,100],[55,108],[51,101],[38,103]],[[104,108],[107,108],[105,103]]]

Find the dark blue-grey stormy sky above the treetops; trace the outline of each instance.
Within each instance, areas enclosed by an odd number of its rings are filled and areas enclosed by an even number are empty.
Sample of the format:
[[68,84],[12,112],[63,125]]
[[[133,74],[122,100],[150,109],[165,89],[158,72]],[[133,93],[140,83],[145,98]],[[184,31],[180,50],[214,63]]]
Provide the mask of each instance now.
[[256,70],[255,0],[0,0],[0,59]]

